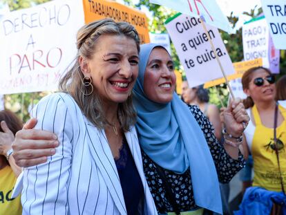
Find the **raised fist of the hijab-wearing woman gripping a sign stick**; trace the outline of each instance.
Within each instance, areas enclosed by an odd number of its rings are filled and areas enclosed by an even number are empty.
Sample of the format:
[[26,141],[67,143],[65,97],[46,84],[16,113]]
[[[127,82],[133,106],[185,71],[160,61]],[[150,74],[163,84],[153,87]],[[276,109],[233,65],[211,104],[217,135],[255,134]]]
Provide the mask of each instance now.
[[223,111],[223,118],[227,133],[233,137],[242,135],[250,119],[239,98],[230,102],[229,106]]

